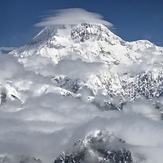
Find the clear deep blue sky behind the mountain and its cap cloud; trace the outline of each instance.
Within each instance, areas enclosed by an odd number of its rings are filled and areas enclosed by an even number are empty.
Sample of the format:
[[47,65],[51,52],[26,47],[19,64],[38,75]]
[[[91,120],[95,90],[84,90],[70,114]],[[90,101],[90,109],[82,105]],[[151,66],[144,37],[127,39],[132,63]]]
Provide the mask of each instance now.
[[114,25],[127,41],[148,39],[163,46],[163,0],[0,0],[0,47],[19,47],[40,30],[50,11],[83,8]]

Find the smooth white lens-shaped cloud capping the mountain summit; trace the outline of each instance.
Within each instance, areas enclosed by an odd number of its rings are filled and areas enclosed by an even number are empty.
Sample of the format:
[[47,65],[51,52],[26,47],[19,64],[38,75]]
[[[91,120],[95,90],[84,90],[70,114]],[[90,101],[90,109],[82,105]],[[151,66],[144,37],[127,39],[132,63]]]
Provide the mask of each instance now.
[[80,23],[100,23],[107,27],[113,25],[104,20],[100,14],[88,12],[81,8],[71,8],[57,10],[51,16],[44,18],[41,22],[35,24],[38,27],[52,26],[52,25],[71,25]]

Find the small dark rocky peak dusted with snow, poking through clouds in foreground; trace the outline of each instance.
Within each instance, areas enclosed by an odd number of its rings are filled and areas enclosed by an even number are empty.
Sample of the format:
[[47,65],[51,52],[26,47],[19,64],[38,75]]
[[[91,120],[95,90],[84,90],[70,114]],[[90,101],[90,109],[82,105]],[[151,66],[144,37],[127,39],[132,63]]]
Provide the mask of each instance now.
[[84,140],[75,142],[71,153],[70,149],[62,153],[54,163],[133,163],[131,152],[125,146],[125,141],[116,138],[113,133],[96,131]]

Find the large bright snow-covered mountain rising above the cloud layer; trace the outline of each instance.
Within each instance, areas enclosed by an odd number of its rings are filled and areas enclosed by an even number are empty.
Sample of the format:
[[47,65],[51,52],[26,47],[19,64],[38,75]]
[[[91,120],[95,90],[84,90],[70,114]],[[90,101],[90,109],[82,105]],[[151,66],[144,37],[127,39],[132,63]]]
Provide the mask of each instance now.
[[[162,94],[163,47],[147,40],[126,42],[101,24],[46,27],[12,54],[71,95],[83,88],[90,96],[100,92],[135,99]],[[54,70],[49,66],[51,71],[44,72],[47,64]]]

